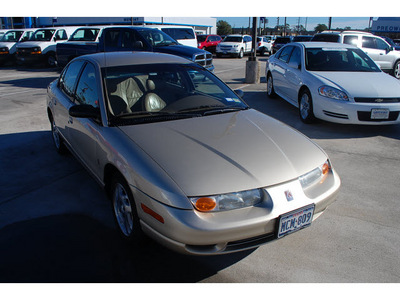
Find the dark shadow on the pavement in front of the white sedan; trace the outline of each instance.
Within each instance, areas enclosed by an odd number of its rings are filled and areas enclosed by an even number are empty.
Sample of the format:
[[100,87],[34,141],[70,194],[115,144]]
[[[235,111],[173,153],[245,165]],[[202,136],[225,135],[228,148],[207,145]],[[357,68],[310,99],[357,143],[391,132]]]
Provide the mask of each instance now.
[[268,97],[266,91],[246,91],[243,99],[250,107],[299,130],[309,138],[350,139],[385,136],[400,140],[400,125],[351,125],[322,120],[304,124],[300,120],[298,108],[280,97]]

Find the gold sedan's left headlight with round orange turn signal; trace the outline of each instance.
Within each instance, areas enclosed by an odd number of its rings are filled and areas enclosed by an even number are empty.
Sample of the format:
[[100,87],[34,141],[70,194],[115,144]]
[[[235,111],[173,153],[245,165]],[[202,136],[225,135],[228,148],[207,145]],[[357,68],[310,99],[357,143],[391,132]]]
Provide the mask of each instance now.
[[201,212],[216,212],[256,205],[262,201],[262,195],[260,189],[255,189],[216,196],[190,198],[190,201]]

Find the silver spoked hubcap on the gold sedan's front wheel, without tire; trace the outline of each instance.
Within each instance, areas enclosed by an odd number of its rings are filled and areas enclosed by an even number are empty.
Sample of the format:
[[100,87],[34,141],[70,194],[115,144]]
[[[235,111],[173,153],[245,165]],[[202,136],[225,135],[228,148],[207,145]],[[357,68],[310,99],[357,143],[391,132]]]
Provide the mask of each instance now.
[[125,236],[129,236],[133,230],[132,207],[129,196],[120,183],[115,186],[113,204],[118,226]]

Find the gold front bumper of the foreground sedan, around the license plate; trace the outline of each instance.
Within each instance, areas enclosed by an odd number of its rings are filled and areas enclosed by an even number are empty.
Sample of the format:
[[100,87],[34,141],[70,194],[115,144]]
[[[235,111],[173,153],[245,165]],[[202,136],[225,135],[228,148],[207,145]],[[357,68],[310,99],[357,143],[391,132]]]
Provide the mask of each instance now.
[[[216,255],[256,248],[277,239],[282,214],[315,205],[315,220],[336,199],[340,179],[333,171],[329,188],[317,197],[308,197],[298,180],[265,188],[259,205],[216,213],[201,213],[166,206],[133,189],[142,230],[174,251],[189,255]],[[285,196],[291,191],[292,200]],[[139,203],[140,202],[140,203]],[[164,223],[145,213],[141,204],[161,215]]]

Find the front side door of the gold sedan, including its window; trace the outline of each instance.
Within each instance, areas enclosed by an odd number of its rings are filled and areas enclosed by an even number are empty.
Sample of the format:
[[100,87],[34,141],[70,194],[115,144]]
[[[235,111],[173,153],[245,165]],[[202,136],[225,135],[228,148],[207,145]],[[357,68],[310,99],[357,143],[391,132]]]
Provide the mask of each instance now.
[[[96,68],[86,63],[79,76],[74,95],[75,105],[91,105],[99,108],[100,80]],[[70,144],[79,159],[94,174],[98,173],[97,139],[100,136],[100,120],[70,117],[68,137]]]

